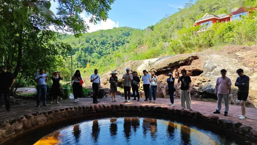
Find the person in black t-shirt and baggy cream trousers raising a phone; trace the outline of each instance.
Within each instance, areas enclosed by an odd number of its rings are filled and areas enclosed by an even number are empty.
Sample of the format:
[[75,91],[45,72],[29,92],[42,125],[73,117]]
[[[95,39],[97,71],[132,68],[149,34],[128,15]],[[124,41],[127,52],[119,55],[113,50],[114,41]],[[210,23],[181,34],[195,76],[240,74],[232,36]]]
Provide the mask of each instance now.
[[[185,69],[181,70],[182,76],[178,78],[178,83],[181,81],[180,87],[180,99],[181,99],[181,110],[186,108],[185,101],[187,103],[187,109],[192,111],[191,107],[191,98],[190,98],[190,85],[191,85],[191,78],[187,75],[187,71]],[[179,72],[178,72],[179,76]]]

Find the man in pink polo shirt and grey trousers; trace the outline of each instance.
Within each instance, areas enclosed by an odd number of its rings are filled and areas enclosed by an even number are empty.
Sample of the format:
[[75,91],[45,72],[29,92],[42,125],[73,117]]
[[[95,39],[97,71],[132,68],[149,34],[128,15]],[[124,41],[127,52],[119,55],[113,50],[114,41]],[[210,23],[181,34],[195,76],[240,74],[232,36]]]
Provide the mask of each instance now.
[[231,93],[231,80],[226,76],[227,71],[225,69],[221,70],[221,77],[219,77],[216,81],[215,85],[215,95],[217,95],[218,99],[218,107],[214,114],[220,114],[221,112],[221,102],[222,98],[225,102],[225,112],[224,116],[227,116],[228,114],[228,95]]

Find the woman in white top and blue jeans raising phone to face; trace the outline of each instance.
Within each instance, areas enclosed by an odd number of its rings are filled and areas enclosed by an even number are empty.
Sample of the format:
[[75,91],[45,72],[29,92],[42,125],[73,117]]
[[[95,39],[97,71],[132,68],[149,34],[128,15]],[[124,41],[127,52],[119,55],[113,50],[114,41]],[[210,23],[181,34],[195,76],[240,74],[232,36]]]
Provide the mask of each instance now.
[[157,82],[158,82],[158,77],[155,75],[155,71],[152,71],[151,73],[151,79],[150,79],[150,93],[149,93],[149,102],[152,100],[153,96],[153,103],[155,103],[156,100],[156,93],[157,93]]

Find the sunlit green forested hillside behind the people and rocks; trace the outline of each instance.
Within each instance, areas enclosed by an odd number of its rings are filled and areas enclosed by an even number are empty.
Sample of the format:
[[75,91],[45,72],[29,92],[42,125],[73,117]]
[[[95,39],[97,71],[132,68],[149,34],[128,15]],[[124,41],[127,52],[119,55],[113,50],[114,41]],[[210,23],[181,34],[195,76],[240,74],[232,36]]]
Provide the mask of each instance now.
[[[219,49],[224,45],[256,44],[256,11],[240,21],[215,23],[209,31],[202,33],[196,33],[200,29],[199,26],[193,27],[195,20],[205,13],[225,13],[233,9],[238,2],[239,0],[198,0],[195,3],[189,1],[177,13],[144,30],[114,28],[86,33],[76,39],[73,36],[62,36],[65,38],[62,41],[73,47],[76,67],[82,70],[84,75],[89,75],[95,68],[102,74],[129,60],[197,52],[206,48]],[[254,0],[245,2],[257,6]],[[163,42],[170,43],[164,47]],[[85,69],[88,58],[91,61],[91,69]]]

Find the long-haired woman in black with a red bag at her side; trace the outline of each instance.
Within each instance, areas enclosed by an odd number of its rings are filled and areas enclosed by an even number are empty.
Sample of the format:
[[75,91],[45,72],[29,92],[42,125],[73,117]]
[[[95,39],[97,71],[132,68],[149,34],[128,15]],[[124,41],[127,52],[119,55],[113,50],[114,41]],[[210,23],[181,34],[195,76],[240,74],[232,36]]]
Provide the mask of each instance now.
[[75,74],[72,76],[71,80],[73,81],[72,85],[72,90],[73,90],[73,95],[75,99],[75,103],[79,102],[78,97],[82,97],[82,86],[80,86],[80,80],[82,80],[80,71],[76,70]]

